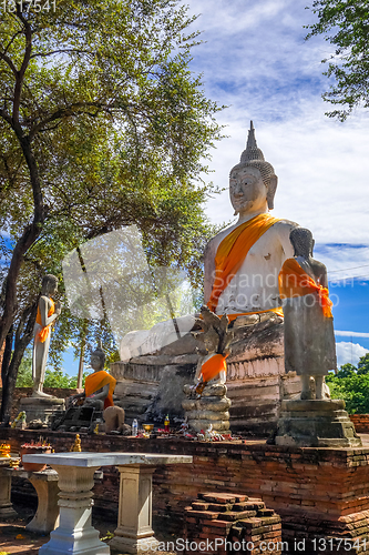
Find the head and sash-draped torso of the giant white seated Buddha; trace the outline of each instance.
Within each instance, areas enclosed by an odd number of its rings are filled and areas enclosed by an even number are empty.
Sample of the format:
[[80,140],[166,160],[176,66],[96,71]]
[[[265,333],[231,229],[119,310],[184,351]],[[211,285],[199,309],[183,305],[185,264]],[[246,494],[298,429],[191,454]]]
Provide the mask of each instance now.
[[278,273],[294,255],[289,234],[297,224],[270,215],[277,182],[273,165],[257,148],[252,122],[246,150],[229,174],[238,221],[205,251],[205,302],[230,321],[243,314],[281,314]]

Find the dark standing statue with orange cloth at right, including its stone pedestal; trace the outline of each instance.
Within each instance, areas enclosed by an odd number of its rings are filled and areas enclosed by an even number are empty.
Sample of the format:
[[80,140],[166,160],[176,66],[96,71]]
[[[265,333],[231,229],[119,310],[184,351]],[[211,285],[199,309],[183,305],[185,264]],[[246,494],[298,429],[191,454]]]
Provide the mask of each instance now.
[[[285,313],[286,371],[301,376],[298,400],[284,400],[274,441],[299,447],[353,447],[361,445],[340,398],[324,398],[324,376],[336,369],[334,320],[328,297],[327,270],[311,258],[309,230],[290,232],[295,258],[279,273]],[[310,391],[314,377],[316,394]],[[327,387],[328,390],[328,387]]]

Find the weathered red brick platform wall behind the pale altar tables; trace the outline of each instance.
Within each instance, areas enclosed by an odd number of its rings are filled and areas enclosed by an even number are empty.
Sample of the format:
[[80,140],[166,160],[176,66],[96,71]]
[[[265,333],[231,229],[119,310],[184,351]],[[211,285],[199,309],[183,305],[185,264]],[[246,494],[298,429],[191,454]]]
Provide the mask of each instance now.
[[[0,430],[13,448],[38,432]],[[74,434],[48,433],[57,452],[68,451]],[[83,451],[193,455],[193,464],[158,466],[154,473],[154,513],[167,529],[181,531],[184,508],[198,493],[228,492],[260,497],[283,519],[283,538],[352,538],[369,553],[369,448],[281,447],[265,442],[203,443],[81,436]],[[117,472],[104,468],[95,505],[116,512]],[[336,545],[336,544],[335,544]],[[338,544],[337,544],[338,545]],[[334,548],[332,553],[357,553]],[[312,552],[311,552],[312,553]]]

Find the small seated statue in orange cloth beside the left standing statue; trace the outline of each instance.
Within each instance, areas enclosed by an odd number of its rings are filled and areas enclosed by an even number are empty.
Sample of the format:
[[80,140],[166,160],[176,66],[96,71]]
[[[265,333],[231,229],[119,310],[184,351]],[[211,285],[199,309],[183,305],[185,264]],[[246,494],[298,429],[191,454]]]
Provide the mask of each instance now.
[[84,405],[94,406],[98,411],[114,405],[113,393],[116,380],[103,370],[104,364],[105,353],[100,343],[91,354],[91,367],[94,372],[85,379],[84,392],[72,395],[71,401],[84,398]]

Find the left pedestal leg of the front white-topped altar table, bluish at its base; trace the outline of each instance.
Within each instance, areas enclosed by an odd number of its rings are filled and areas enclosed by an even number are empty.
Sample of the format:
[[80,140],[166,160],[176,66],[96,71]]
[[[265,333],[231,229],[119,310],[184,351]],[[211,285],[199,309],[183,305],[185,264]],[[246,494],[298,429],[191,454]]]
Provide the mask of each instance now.
[[110,555],[110,547],[99,539],[99,532],[91,525],[93,474],[101,464],[51,466],[59,474],[60,524],[39,554]]

